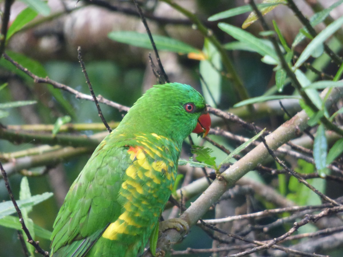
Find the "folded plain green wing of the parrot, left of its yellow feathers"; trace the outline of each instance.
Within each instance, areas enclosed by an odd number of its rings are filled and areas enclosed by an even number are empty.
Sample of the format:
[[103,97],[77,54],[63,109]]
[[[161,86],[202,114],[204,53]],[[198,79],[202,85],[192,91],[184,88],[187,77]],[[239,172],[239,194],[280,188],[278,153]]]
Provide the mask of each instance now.
[[119,189],[131,160],[118,137],[111,133],[100,143],[70,187],[51,236],[54,257],[84,256],[119,217],[126,200]]

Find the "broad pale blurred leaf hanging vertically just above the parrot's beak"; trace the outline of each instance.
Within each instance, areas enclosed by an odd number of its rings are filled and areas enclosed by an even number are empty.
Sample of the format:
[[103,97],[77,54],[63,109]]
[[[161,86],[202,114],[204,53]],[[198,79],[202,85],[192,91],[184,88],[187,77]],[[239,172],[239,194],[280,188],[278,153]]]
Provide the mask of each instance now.
[[203,52],[208,59],[200,61],[200,74],[201,88],[206,103],[216,107],[221,97],[221,85],[222,75],[222,62],[220,53],[211,44],[211,42],[205,38]]

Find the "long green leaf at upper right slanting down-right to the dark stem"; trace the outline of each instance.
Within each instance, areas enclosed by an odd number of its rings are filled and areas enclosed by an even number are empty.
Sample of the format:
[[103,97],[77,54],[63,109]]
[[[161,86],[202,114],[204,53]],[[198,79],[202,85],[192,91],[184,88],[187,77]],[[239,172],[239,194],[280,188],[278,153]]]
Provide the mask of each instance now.
[[235,27],[227,23],[218,23],[218,27],[230,36],[232,36],[233,38],[237,39],[238,41],[244,42],[251,49],[255,49],[255,51],[261,54],[261,56],[268,55],[276,61],[279,60],[277,58],[274,48],[270,46],[270,44],[265,44],[264,40],[261,40],[260,38],[253,36],[252,34],[246,32],[241,28]]

